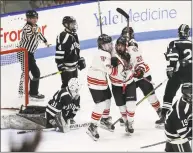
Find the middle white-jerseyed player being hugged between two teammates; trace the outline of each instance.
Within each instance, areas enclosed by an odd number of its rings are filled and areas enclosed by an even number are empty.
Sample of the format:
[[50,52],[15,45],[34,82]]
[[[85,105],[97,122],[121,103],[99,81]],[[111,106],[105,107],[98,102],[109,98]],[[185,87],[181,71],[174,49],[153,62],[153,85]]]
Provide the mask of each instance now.
[[119,64],[115,68],[117,75],[110,75],[112,92],[116,105],[122,115],[125,131],[129,134],[134,132],[133,122],[136,109],[136,84],[134,77],[143,77],[145,67],[136,60],[136,54],[129,54],[134,46],[126,48],[127,38],[120,36],[115,45],[119,57]]

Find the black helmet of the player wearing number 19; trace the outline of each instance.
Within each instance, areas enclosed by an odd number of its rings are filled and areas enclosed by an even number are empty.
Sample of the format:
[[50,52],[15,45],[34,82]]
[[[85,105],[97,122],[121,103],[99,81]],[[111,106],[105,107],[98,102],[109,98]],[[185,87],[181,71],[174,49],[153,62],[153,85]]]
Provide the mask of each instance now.
[[189,104],[192,104],[192,83],[184,83],[181,92],[183,94],[183,99]]

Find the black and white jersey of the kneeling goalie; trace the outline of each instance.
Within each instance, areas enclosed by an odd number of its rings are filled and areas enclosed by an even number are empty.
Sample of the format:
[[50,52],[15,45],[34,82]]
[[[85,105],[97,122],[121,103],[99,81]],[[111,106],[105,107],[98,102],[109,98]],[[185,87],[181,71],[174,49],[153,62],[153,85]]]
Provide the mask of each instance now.
[[53,98],[48,102],[46,112],[55,116],[55,114],[61,112],[61,110],[73,111],[76,107],[76,100],[72,98],[68,89],[62,88],[61,90],[58,90]]

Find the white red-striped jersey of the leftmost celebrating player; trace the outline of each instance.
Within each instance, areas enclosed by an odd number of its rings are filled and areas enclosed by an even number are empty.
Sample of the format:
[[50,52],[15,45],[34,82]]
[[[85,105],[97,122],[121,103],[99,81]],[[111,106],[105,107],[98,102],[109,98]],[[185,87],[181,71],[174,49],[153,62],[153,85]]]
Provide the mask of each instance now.
[[111,66],[111,54],[103,50],[98,50],[88,69],[88,87],[96,90],[107,89],[107,75],[113,73],[115,72]]

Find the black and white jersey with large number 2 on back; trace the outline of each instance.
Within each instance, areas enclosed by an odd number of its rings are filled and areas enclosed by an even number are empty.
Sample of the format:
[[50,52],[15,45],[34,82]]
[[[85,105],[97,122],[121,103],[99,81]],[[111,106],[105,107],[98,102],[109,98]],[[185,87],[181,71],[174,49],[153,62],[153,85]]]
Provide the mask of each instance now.
[[192,63],[192,42],[184,39],[171,41],[165,55],[170,66],[174,68],[176,68],[178,61],[187,60]]

